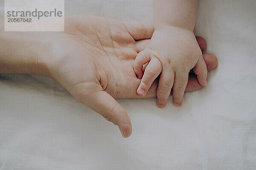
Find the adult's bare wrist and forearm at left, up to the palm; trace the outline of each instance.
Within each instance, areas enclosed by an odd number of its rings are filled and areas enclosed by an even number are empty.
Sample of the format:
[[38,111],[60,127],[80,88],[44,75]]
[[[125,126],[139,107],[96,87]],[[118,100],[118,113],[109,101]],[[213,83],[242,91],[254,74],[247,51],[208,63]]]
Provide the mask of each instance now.
[[46,65],[41,57],[39,32],[0,32],[0,74],[42,74]]

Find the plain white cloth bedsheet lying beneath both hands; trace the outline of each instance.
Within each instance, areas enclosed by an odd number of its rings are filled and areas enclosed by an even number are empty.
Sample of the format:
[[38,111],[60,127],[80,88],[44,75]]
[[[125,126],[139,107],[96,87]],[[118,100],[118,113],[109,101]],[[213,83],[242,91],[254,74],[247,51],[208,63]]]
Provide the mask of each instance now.
[[[152,20],[152,0],[66,0],[65,10]],[[128,139],[53,80],[0,75],[0,170],[256,169],[256,0],[199,0],[195,33],[218,57],[209,85],[180,108],[118,99]]]

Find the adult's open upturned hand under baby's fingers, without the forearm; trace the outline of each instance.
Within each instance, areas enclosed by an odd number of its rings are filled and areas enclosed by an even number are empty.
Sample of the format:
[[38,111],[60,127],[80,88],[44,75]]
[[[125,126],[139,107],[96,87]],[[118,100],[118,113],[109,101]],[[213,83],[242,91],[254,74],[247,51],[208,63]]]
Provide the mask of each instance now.
[[[65,31],[46,33],[43,58],[47,76],[59,82],[78,101],[118,125],[122,136],[131,135],[131,121],[114,98],[135,98],[140,84],[134,59],[148,44],[154,28],[150,24],[122,23],[92,16],[67,17]],[[198,40],[205,46],[203,39]],[[213,55],[204,58],[208,68],[216,66]],[[187,90],[202,88],[195,78]],[[145,97],[155,97],[157,81]]]

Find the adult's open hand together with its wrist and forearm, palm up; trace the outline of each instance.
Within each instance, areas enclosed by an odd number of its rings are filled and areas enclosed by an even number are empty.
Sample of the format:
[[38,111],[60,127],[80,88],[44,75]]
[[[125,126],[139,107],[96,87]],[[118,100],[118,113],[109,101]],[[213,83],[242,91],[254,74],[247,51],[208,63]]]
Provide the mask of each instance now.
[[[3,28],[1,28],[3,30]],[[66,17],[64,32],[0,32],[0,74],[41,74],[59,82],[74,98],[132,133],[131,121],[114,98],[141,98],[134,59],[153,34],[150,24],[122,23],[93,16]],[[202,51],[206,42],[198,37]],[[217,65],[203,54],[207,69]],[[186,91],[203,88],[192,75]],[[157,80],[144,97],[156,97]]]

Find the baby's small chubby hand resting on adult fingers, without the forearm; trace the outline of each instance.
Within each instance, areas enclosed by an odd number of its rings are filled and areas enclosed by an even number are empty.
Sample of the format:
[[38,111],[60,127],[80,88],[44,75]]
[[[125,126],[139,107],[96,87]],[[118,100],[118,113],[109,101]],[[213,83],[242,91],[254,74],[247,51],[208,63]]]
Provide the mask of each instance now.
[[[143,74],[143,65],[147,64]],[[148,46],[134,62],[134,72],[140,85],[137,94],[147,94],[154,79],[160,74],[157,88],[157,106],[164,108],[171,93],[173,104],[180,106],[193,68],[198,82],[207,86],[207,67],[193,31],[166,26],[154,31]]]

